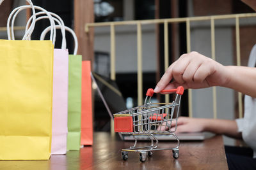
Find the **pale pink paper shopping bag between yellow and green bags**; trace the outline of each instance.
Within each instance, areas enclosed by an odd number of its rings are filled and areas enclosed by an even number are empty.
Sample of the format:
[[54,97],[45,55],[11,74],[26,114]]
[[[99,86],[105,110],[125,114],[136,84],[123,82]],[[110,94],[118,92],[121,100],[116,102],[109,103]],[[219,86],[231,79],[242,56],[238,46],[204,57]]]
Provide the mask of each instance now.
[[67,153],[68,52],[54,49],[52,93],[52,155]]

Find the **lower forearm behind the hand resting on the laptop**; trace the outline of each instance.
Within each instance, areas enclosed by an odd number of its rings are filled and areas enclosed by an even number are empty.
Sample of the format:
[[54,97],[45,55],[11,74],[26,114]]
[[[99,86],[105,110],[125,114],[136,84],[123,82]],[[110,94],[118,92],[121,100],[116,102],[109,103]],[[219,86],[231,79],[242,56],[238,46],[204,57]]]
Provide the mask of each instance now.
[[235,120],[204,119],[204,131],[224,134],[231,138],[241,139],[241,132],[237,132]]

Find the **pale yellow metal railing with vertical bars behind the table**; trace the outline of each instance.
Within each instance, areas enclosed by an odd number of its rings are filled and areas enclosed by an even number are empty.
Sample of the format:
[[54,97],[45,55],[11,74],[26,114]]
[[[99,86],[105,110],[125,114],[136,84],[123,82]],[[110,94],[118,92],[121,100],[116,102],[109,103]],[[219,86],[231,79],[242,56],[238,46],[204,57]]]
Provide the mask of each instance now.
[[[90,27],[110,27],[110,44],[111,44],[111,80],[116,79],[115,72],[115,26],[116,25],[137,25],[137,77],[138,77],[138,105],[143,104],[143,84],[142,84],[142,41],[141,41],[141,25],[146,24],[164,24],[164,69],[166,70],[169,66],[169,51],[168,51],[168,24],[169,23],[186,23],[186,41],[187,41],[187,52],[191,52],[191,22],[194,21],[211,21],[211,58],[215,60],[215,30],[214,21],[223,19],[236,19],[236,58],[237,66],[241,66],[240,58],[240,39],[239,39],[239,18],[256,17],[256,13],[244,13],[244,14],[232,14],[232,15],[213,15],[207,17],[187,17],[187,18],[168,18],[168,19],[154,19],[154,20],[131,20],[123,22],[101,22],[101,23],[90,23],[85,25],[85,32],[88,32]],[[188,101],[189,101],[189,117],[193,117],[192,110],[192,91],[188,90]],[[169,97],[166,97],[166,102],[168,103]],[[216,103],[216,87],[212,87],[212,105],[213,105],[213,117],[217,118],[217,103]],[[239,102],[239,118],[243,117],[242,108],[242,94],[238,92],[238,102]]]

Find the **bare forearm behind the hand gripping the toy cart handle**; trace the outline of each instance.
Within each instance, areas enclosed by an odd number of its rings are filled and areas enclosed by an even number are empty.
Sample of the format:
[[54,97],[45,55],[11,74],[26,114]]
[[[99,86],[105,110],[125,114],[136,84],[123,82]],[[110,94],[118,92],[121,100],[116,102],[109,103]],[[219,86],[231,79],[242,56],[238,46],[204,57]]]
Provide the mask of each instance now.
[[237,90],[248,96],[256,97],[256,68],[226,66],[230,72],[230,80],[224,87]]

